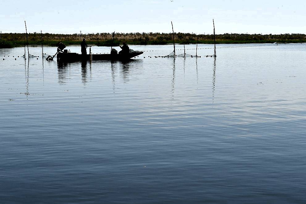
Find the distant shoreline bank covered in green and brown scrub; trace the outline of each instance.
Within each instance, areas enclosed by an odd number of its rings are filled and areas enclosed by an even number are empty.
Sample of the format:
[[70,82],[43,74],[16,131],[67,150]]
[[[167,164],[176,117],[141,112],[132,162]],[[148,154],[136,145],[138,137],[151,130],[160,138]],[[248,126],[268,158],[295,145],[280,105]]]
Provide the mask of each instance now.
[[[86,38],[87,44],[98,46],[118,46],[124,41],[127,44],[153,45],[173,43],[172,33],[115,33],[114,40],[111,33],[91,33],[91,34],[52,34],[52,33],[28,33],[28,44],[44,44],[55,46],[58,42],[64,44],[80,44],[82,38]],[[174,41],[177,44],[213,44],[212,34],[194,33],[174,33]],[[224,33],[216,35],[217,44],[236,43],[305,43],[306,35],[299,33],[285,34],[238,34]],[[0,48],[21,47],[27,44],[25,33],[2,33]]]

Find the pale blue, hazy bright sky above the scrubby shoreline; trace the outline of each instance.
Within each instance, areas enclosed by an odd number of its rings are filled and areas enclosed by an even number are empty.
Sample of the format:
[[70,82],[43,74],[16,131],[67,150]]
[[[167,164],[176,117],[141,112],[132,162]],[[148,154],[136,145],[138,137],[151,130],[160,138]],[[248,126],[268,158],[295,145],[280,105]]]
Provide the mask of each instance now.
[[306,1],[1,0],[2,33],[306,33]]

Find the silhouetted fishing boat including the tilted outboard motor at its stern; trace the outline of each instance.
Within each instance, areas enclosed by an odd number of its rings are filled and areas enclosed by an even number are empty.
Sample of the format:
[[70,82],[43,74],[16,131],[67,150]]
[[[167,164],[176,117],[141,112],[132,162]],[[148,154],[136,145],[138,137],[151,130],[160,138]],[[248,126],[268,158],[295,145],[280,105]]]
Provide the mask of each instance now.
[[78,53],[68,52],[67,50],[64,50],[65,48],[66,46],[63,43],[58,43],[58,48],[55,55],[49,55],[46,60],[53,60],[55,56],[57,56],[57,61],[60,62],[76,62],[88,60],[129,60],[132,57],[136,57],[143,53],[142,51],[133,51],[130,49],[130,52],[125,54],[117,54],[117,51],[112,52],[111,54],[92,54],[90,48],[90,54],[82,55]]

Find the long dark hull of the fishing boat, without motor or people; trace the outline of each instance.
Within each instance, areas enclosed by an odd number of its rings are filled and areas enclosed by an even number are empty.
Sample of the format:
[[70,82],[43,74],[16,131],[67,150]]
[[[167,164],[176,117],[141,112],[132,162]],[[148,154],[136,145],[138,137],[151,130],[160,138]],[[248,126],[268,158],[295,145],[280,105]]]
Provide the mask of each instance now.
[[[92,60],[129,60],[132,57],[141,55],[143,52],[130,52],[128,54],[92,54]],[[78,53],[57,53],[57,61],[62,62],[75,62],[75,61],[87,61],[88,55],[82,55]]]

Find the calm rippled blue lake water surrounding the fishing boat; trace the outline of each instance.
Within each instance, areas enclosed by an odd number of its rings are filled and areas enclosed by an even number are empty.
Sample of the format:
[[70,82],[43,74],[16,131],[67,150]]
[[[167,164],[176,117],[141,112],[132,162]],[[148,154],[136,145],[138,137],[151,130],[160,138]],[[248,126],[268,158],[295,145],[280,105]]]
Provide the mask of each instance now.
[[0,49],[1,203],[306,203],[306,44],[212,47]]

